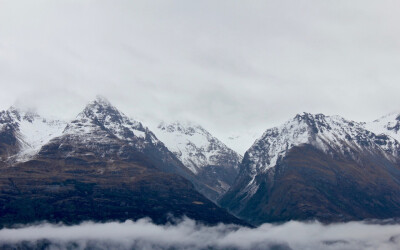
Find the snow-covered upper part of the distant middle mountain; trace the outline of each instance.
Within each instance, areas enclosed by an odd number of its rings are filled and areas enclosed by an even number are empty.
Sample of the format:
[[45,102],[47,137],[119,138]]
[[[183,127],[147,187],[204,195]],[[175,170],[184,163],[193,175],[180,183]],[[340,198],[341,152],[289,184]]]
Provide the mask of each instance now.
[[205,166],[237,168],[241,156],[212,136],[199,124],[162,122],[155,130],[157,137],[182,163],[197,174]]

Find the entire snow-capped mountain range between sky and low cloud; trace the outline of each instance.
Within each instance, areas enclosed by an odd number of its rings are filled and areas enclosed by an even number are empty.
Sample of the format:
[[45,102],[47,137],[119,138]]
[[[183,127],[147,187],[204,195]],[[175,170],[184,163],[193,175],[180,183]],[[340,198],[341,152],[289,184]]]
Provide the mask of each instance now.
[[242,156],[199,124],[149,129],[102,97],[71,121],[11,107],[0,112],[0,225],[400,217],[399,130],[398,114],[302,113]]

